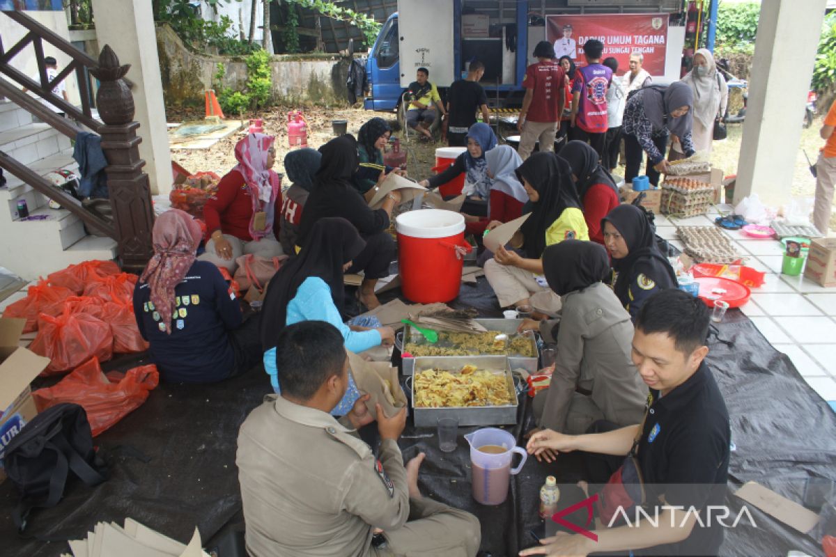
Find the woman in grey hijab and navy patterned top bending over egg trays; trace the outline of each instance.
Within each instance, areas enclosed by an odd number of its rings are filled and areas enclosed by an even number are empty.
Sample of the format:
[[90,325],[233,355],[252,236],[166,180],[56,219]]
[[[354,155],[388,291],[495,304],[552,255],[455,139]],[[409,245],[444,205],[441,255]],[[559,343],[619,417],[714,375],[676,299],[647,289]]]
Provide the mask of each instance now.
[[645,174],[653,185],[659,184],[660,172],[667,172],[665,149],[668,136],[680,140],[686,157],[694,154],[691,142],[691,109],[694,93],[691,86],[675,81],[669,86],[650,85],[631,93],[624,104],[624,154],[627,170],[624,180],[630,182],[639,175],[642,155],[647,153]]

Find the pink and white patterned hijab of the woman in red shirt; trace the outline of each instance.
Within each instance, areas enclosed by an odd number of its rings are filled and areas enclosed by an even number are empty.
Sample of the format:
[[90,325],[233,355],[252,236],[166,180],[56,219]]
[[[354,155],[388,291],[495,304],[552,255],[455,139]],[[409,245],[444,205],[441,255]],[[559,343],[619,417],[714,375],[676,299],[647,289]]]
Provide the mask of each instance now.
[[[252,200],[250,235],[255,241],[272,233],[276,199],[281,193],[278,175],[267,165],[275,140],[276,138],[271,135],[247,134],[247,137],[235,145],[235,158],[238,164],[232,170],[241,173],[250,191]],[[259,212],[263,212],[266,216],[263,230],[256,230],[253,225],[256,214]]]

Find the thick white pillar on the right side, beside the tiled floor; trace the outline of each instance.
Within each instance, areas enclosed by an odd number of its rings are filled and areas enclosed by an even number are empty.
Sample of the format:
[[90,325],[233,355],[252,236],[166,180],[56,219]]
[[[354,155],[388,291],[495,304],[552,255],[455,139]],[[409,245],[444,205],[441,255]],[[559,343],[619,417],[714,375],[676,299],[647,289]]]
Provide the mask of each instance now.
[[763,0],[734,202],[788,204],[827,0]]

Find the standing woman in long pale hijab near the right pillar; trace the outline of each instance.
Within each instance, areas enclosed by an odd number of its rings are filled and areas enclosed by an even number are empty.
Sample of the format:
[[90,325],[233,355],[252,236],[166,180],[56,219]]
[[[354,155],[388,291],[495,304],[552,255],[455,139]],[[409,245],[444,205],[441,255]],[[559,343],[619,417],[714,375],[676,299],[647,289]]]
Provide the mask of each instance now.
[[[714,121],[726,114],[729,100],[726,78],[717,71],[711,51],[700,48],[694,53],[693,68],[682,81],[694,91],[694,124],[691,128],[694,149],[711,153]],[[673,149],[677,152],[682,150],[679,143],[675,143]]]

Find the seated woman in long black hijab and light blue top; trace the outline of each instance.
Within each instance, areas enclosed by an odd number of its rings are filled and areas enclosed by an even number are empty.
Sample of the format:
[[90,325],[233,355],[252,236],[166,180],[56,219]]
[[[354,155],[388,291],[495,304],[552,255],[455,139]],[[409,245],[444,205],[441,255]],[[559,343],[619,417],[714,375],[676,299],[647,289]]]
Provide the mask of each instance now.
[[[394,342],[390,327],[354,331],[343,323],[343,275],[352,260],[365,248],[365,242],[348,220],[324,218],[314,225],[308,242],[298,256],[283,266],[270,281],[261,312],[261,343],[264,369],[275,392],[280,392],[276,368],[276,341],[284,327],[303,321],[329,322],[343,334],[345,347],[364,352],[382,342]],[[348,413],[359,394],[349,392],[337,407],[339,415]]]

